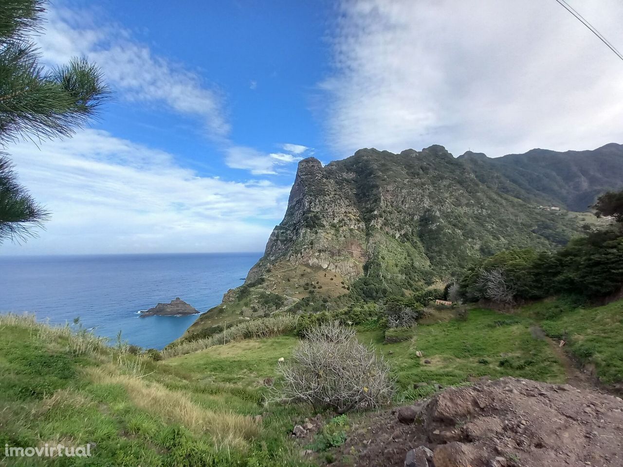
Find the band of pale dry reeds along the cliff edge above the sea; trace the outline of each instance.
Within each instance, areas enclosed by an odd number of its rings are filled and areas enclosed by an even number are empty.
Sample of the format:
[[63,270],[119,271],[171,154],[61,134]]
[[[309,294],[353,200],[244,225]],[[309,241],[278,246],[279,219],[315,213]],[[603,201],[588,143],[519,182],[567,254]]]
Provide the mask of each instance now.
[[284,314],[282,316],[272,316],[270,318],[253,319],[246,323],[232,326],[222,333],[214,334],[206,339],[196,341],[186,341],[176,346],[169,347],[162,351],[165,359],[177,357],[192,352],[198,352],[209,347],[227,344],[229,342],[244,341],[244,339],[261,339],[263,337],[282,336],[291,333],[297,327],[297,316]]

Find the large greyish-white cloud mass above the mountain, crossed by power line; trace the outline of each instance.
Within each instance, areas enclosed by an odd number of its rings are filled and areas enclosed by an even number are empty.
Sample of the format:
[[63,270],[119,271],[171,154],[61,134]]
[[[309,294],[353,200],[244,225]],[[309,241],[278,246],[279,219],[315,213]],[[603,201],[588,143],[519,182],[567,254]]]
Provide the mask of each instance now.
[[[623,49],[623,3],[572,3]],[[623,141],[623,63],[556,2],[345,0],[341,10],[321,88],[328,138],[344,156]]]

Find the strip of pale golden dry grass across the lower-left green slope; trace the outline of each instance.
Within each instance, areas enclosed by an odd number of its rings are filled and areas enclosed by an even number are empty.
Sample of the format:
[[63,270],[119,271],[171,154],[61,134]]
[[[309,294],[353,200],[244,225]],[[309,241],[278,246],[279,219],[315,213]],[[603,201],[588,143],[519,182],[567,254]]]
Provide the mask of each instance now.
[[115,372],[114,367],[87,370],[97,384],[118,384],[125,388],[130,400],[137,406],[164,420],[180,423],[196,433],[209,433],[217,443],[244,448],[254,438],[259,426],[252,418],[231,412],[212,412],[193,402],[181,392],[163,385]]

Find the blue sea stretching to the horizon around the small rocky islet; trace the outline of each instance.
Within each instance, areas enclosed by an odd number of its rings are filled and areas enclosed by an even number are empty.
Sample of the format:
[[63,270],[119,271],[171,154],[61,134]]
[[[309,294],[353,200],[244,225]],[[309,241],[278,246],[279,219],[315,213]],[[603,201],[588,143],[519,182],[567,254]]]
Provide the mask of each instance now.
[[242,285],[262,253],[0,257],[0,313],[24,311],[113,339],[161,349],[199,315],[140,318],[176,297],[201,313]]

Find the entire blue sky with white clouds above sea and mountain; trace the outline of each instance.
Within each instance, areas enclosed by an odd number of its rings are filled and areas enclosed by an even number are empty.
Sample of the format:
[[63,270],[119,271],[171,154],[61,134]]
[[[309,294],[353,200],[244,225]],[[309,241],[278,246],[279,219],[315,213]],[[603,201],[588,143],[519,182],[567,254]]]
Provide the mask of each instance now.
[[[572,2],[623,48],[618,0]],[[53,213],[2,254],[260,251],[297,162],[443,144],[490,156],[623,142],[623,62],[556,2],[55,0],[46,65],[115,101],[7,151]]]

